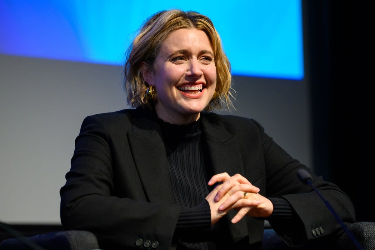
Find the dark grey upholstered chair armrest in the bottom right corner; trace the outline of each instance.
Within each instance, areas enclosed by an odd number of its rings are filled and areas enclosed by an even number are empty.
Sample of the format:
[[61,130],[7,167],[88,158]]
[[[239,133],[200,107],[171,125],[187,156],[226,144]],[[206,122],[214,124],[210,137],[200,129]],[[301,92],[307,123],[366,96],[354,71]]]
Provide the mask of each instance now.
[[[365,250],[375,249],[375,222],[356,222],[348,229]],[[338,240],[338,249],[357,249],[350,236],[344,232]]]

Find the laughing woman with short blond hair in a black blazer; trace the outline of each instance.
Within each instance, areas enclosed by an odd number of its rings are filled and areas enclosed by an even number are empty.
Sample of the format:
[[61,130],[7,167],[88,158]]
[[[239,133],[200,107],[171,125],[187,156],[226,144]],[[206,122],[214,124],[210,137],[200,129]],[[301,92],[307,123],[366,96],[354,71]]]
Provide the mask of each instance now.
[[[151,16],[129,49],[125,79],[135,109],[83,121],[60,191],[65,229],[93,232],[103,249],[257,249],[265,219],[292,246],[339,233],[296,178],[308,168],[256,121],[210,112],[231,108],[232,95],[230,64],[207,16]],[[354,222],[337,186],[312,182]]]

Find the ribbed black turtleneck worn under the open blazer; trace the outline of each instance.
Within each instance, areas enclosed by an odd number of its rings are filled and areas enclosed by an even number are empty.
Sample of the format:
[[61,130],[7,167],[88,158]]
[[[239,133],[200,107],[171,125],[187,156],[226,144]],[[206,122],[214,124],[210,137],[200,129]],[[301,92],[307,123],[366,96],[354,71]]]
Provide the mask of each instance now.
[[[159,124],[168,159],[173,198],[176,204],[183,206],[174,237],[184,238],[189,229],[189,235],[191,232],[196,234],[193,238],[209,238],[211,211],[205,197],[210,190],[201,148],[200,120],[176,125],[159,119]],[[184,245],[188,249],[211,249],[207,243],[189,244],[190,247],[187,243]]]

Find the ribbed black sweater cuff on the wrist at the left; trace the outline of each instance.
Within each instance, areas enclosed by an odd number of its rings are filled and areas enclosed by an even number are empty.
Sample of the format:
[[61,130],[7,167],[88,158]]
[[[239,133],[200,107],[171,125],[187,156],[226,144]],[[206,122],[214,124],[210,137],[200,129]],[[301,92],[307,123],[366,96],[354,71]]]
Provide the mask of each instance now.
[[211,226],[211,209],[208,201],[204,199],[196,207],[182,208],[176,229],[207,226]]

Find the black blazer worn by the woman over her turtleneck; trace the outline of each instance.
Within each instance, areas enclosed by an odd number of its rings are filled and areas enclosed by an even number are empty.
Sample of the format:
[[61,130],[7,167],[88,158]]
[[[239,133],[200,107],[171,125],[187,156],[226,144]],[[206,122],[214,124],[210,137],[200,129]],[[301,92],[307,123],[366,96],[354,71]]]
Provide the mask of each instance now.
[[[299,223],[269,220],[288,244],[303,244],[339,231],[340,225],[324,203],[297,178],[298,169],[309,169],[279,147],[260,124],[209,112],[202,112],[200,119],[205,159],[211,161],[214,174],[239,173],[259,187],[261,195],[290,202]],[[60,190],[62,225],[66,230],[93,232],[104,249],[132,249],[139,239],[149,240],[157,249],[171,249],[181,207],[174,204],[169,178],[153,112],[137,108],[86,117]],[[354,222],[347,195],[315,175],[313,184],[345,222]],[[232,224],[234,214],[231,211],[220,220],[226,223],[227,232],[218,245],[238,243],[240,249],[244,242],[246,246],[260,244],[264,221],[246,217]],[[314,236],[312,229],[320,227],[324,233]]]

